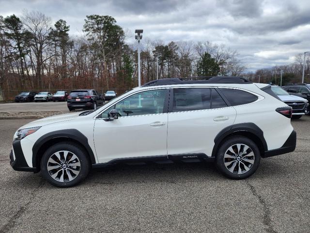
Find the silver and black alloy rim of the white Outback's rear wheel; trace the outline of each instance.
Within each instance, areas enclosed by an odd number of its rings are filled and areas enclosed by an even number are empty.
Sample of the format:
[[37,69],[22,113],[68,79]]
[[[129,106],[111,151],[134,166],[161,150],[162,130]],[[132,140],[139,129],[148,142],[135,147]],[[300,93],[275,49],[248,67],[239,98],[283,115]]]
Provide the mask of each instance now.
[[253,150],[245,144],[234,144],[224,154],[224,165],[234,174],[248,172],[254,164]]

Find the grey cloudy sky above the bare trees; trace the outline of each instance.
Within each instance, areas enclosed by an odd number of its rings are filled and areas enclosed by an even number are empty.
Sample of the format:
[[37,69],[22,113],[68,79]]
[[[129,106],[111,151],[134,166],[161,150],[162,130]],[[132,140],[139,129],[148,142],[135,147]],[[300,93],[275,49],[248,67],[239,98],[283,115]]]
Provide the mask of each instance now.
[[24,10],[62,18],[71,35],[86,15],[109,15],[128,34],[164,42],[223,43],[237,50],[248,70],[294,62],[310,50],[310,0],[0,0],[0,15]]

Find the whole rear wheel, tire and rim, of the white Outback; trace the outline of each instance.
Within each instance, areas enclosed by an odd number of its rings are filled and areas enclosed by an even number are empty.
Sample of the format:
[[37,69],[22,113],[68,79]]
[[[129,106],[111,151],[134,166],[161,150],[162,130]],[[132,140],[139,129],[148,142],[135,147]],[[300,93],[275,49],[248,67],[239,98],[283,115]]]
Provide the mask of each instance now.
[[217,152],[217,168],[228,178],[245,179],[258,168],[261,160],[257,145],[247,137],[229,137]]

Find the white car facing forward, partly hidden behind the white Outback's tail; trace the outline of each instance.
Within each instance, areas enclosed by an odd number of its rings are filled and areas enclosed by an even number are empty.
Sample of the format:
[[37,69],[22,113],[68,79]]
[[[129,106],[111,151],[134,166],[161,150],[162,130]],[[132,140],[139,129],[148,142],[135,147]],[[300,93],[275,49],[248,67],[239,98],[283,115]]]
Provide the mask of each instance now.
[[290,95],[284,89],[279,86],[271,86],[271,90],[287,105],[293,108],[294,119],[299,119],[305,114],[309,113],[309,103],[308,100],[301,98],[299,96]]

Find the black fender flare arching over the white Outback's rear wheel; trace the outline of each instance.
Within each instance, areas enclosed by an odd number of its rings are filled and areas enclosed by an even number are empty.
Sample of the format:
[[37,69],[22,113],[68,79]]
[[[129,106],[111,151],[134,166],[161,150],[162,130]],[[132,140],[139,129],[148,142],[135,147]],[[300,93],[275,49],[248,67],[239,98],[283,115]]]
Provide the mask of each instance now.
[[240,124],[227,126],[224,129],[222,129],[219,133],[217,133],[217,136],[214,138],[215,145],[212,150],[212,156],[216,156],[217,149],[221,141],[225,137],[229,136],[230,134],[238,133],[238,132],[247,132],[247,133],[254,134],[261,141],[263,145],[262,152],[268,150],[267,143],[263,136],[263,131],[261,130],[261,128],[259,128],[256,124],[249,122],[249,123],[240,123]]

